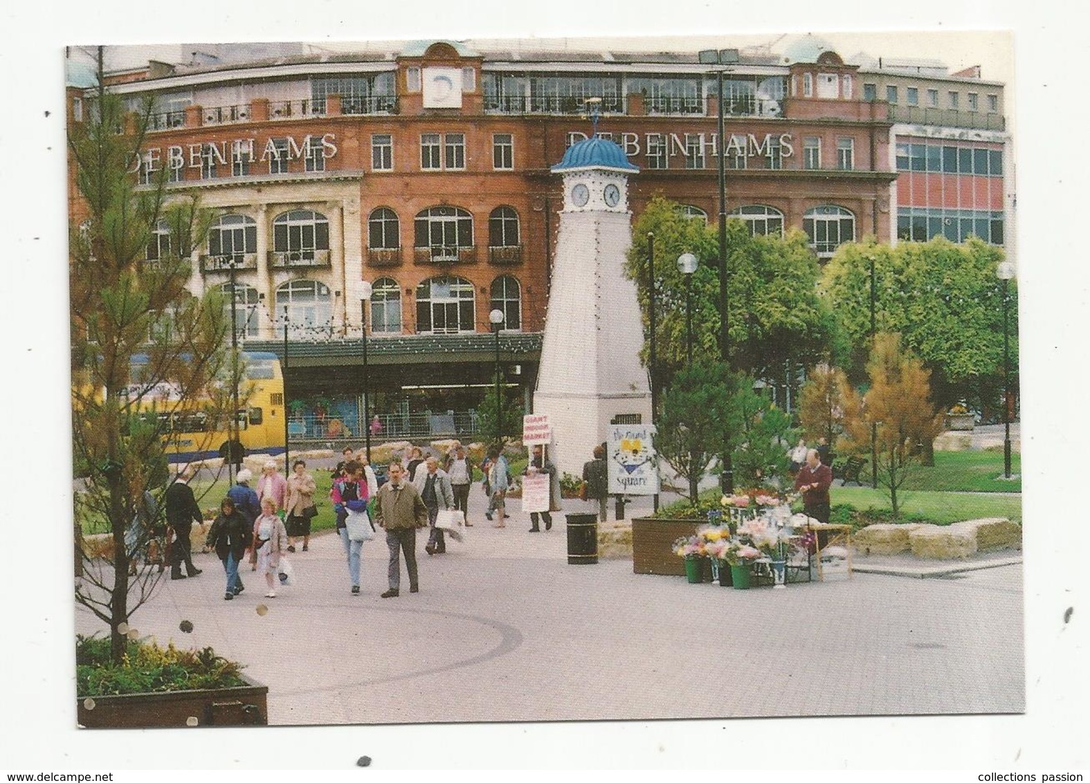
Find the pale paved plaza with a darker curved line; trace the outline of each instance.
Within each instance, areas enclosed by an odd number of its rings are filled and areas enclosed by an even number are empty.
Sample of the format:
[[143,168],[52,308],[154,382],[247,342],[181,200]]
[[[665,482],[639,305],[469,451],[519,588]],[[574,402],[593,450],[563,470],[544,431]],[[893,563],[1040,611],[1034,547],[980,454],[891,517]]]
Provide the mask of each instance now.
[[[165,580],[132,626],[245,663],[281,725],[1025,709],[1020,564],[735,590],[630,560],[569,565],[562,514],[529,534],[509,511],[496,529],[471,505],[476,524],[445,555],[419,536],[419,595],[402,575],[401,596],[379,598],[382,531],[350,595],[341,542],[323,534],[277,598],[244,568],[246,591],[225,601],[222,566],[199,554],[204,574]],[[76,626],[100,628],[82,609]]]

